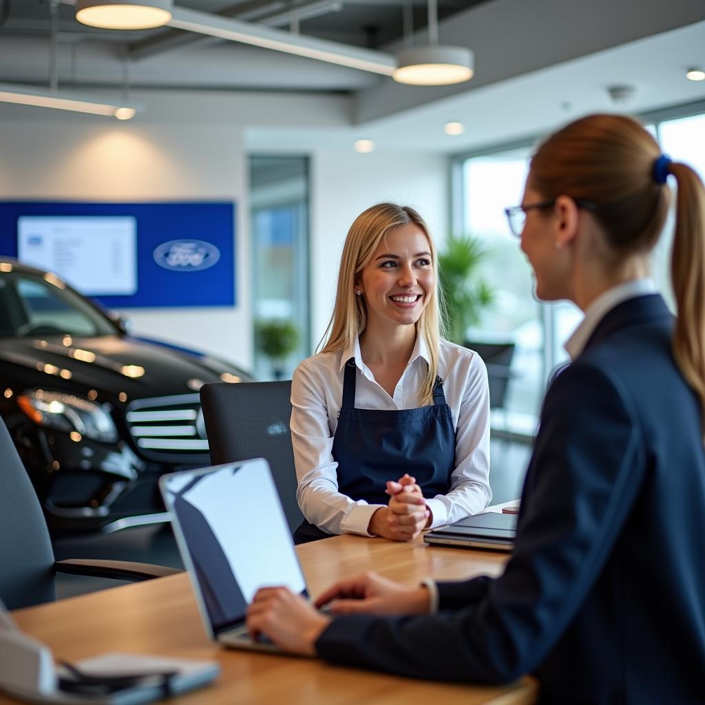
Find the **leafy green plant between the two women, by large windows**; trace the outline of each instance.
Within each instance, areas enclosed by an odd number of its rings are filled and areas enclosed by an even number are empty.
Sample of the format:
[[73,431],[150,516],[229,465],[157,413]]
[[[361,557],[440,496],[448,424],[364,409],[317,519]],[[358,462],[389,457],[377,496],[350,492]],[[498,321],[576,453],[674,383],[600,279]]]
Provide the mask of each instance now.
[[465,345],[467,329],[477,325],[482,311],[494,302],[494,291],[479,274],[486,256],[482,243],[470,235],[451,235],[439,254],[448,339],[458,345]]

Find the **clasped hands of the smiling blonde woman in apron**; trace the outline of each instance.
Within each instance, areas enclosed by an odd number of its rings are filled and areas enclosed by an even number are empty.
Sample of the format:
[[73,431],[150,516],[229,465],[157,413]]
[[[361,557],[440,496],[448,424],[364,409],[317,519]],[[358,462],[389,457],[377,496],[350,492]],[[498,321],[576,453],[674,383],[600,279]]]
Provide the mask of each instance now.
[[411,541],[431,525],[431,510],[416,479],[405,474],[398,482],[387,482],[388,506],[379,508],[369,520],[367,531],[393,541]]

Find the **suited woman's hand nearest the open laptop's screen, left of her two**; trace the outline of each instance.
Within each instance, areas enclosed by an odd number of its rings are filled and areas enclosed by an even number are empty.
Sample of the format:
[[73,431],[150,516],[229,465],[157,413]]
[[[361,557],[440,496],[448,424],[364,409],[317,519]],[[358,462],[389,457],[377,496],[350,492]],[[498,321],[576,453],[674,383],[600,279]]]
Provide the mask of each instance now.
[[264,634],[290,654],[315,656],[314,644],[330,621],[287,587],[260,588],[247,608],[250,637]]

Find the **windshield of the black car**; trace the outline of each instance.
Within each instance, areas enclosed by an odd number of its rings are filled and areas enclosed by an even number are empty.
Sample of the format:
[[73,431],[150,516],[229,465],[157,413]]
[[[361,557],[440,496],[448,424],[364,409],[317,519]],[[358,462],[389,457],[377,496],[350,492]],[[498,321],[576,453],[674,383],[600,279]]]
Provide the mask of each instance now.
[[0,274],[0,336],[107,336],[117,332],[82,296],[51,274]]

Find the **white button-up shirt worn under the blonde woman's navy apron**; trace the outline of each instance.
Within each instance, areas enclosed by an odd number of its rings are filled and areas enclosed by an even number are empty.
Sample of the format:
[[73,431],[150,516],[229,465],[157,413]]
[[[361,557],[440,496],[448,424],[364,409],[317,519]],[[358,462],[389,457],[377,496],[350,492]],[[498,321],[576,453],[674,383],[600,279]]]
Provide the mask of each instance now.
[[[456,522],[484,510],[492,497],[489,487],[489,387],[484,362],[472,350],[441,341],[439,376],[455,427],[455,469],[446,495],[427,498],[431,528]],[[345,353],[319,353],[296,368],[291,383],[291,441],[303,515],[329,534],[369,536],[374,512],[384,505],[354,501],[338,492],[333,460],[333,434],[343,398],[343,367],[355,358],[355,407],[398,411],[418,407],[419,390],[429,360],[423,336],[417,336],[399,383],[390,397],[364,364],[360,341]],[[396,480],[398,468],[389,469]]]

